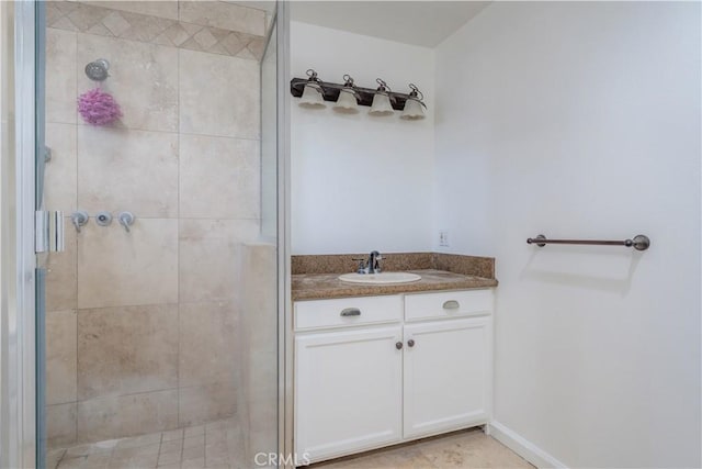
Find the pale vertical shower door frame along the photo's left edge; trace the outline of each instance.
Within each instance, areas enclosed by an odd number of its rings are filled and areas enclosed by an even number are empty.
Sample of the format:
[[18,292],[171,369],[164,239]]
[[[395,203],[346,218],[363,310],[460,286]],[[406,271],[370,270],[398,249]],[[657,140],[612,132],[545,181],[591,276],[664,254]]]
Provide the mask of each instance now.
[[0,464],[31,468],[36,466],[37,449],[34,245],[37,4],[19,1],[14,2],[14,9],[15,310],[2,317],[2,340],[7,344],[2,346]]

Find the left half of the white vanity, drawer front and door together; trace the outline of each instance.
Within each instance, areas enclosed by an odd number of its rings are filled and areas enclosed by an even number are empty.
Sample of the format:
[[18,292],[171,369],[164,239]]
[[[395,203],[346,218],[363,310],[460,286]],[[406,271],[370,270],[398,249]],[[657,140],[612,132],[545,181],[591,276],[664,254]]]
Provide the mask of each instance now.
[[400,442],[403,298],[304,301],[294,314],[298,457],[317,461]]

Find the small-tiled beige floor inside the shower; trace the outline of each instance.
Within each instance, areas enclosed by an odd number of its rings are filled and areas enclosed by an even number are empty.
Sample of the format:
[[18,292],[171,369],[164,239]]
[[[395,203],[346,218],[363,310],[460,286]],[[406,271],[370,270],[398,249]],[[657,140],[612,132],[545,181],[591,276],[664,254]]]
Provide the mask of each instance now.
[[234,418],[132,438],[49,449],[48,469],[248,468]]

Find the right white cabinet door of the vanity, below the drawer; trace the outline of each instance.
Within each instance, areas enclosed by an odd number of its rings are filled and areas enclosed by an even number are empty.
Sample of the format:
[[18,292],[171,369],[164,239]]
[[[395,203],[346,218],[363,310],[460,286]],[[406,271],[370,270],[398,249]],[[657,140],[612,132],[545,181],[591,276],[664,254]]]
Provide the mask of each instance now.
[[476,317],[405,326],[405,438],[488,421],[490,324]]

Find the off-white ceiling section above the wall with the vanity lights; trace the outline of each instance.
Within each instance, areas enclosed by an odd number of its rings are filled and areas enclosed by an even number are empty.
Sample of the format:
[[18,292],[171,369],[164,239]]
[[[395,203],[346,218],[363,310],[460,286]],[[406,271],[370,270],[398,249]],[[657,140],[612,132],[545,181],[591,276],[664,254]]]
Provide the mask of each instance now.
[[291,19],[405,44],[435,47],[489,1],[293,1]]

